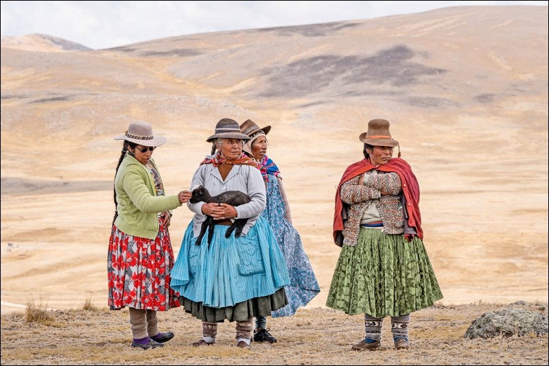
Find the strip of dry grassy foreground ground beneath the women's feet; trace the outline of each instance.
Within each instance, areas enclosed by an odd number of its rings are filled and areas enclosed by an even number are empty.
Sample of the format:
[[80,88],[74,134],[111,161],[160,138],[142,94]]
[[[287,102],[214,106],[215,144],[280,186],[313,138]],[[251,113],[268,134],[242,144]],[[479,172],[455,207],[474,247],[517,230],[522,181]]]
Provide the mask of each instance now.
[[[219,326],[216,345],[193,347],[201,336],[200,321],[181,308],[159,314],[160,330],[172,330],[176,338],[146,351],[130,347],[127,310],[56,310],[49,312],[54,318],[49,324],[28,323],[22,313],[12,313],[1,317],[1,364],[255,365],[261,360],[271,365],[547,365],[547,335],[463,338],[474,319],[507,306],[478,302],[414,313],[407,352],[394,349],[388,319],[379,350],[351,351],[363,337],[362,316],[327,308],[300,309],[293,317],[269,319],[278,343],[253,343],[249,351],[233,346],[234,324],[229,323]],[[547,306],[519,307],[547,315]]]

